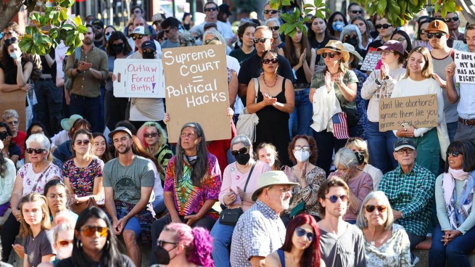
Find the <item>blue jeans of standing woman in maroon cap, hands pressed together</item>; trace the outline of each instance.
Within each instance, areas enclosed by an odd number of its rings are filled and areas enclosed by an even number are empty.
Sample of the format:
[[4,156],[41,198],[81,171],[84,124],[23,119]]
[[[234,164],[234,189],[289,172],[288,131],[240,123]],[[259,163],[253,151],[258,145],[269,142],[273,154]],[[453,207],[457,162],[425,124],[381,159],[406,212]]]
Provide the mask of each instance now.
[[392,131],[381,133],[379,123],[368,121],[366,137],[368,138],[370,163],[380,169],[383,174],[396,169],[397,161],[392,152],[397,136]]

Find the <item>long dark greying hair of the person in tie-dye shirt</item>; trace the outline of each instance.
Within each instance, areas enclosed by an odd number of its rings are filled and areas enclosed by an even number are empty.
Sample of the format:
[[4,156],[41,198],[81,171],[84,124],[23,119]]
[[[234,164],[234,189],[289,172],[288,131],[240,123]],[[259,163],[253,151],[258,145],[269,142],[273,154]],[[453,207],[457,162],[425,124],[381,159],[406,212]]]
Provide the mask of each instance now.
[[[263,55],[264,57],[264,55]],[[183,176],[183,161],[185,157],[185,150],[182,147],[182,136],[181,133],[185,128],[193,128],[196,137],[201,137],[201,141],[196,145],[197,151],[197,161],[193,166],[191,171],[191,181],[194,186],[201,186],[201,182],[204,180],[206,173],[208,172],[208,148],[206,148],[206,138],[204,136],[204,131],[199,123],[186,123],[183,125],[182,130],[180,130],[180,137],[177,142],[176,149],[176,161],[175,161],[175,177],[179,178]]]

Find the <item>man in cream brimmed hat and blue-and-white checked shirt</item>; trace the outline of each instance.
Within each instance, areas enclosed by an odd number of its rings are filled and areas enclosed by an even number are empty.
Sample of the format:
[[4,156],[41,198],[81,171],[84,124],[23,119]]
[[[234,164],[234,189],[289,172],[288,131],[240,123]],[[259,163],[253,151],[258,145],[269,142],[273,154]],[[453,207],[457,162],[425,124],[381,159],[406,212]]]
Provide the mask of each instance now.
[[231,266],[264,266],[267,255],[282,247],[285,225],[280,213],[288,209],[292,187],[283,171],[271,171],[258,179],[252,205],[239,217],[231,242]]

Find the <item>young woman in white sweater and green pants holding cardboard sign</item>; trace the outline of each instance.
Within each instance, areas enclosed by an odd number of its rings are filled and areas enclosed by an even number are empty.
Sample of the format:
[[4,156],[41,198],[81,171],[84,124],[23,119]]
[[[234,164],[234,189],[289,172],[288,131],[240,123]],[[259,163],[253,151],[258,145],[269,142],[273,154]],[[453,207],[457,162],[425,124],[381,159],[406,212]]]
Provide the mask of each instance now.
[[[432,73],[432,57],[430,56],[429,50],[426,47],[414,48],[409,54],[406,76],[396,84],[392,91],[391,98],[436,94],[437,128],[441,127],[440,129],[435,129],[435,127],[414,128],[414,126],[403,124],[401,129],[393,132],[398,137],[412,138],[417,146],[417,164],[431,171],[434,175],[437,175],[440,156],[439,140],[444,144],[448,136],[444,120],[444,99],[442,97],[442,90],[437,81],[432,78]],[[412,118],[401,118],[401,121],[404,119],[412,120]],[[444,127],[445,131],[443,131]],[[440,132],[440,134],[438,132]],[[446,148],[447,146],[445,146],[445,149],[442,151],[446,151]]]

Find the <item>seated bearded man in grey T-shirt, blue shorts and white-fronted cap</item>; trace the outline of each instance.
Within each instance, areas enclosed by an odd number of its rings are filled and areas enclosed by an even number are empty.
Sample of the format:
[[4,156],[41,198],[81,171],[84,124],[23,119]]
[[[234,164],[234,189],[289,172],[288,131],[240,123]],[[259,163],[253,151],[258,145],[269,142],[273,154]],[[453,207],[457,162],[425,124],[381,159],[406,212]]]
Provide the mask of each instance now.
[[150,243],[150,226],[155,220],[151,205],[155,199],[153,166],[148,159],[134,154],[129,129],[117,127],[109,137],[119,157],[102,169],[105,208],[112,220],[112,231],[123,236],[127,255],[135,266],[141,266],[138,238],[142,236],[142,244]]

